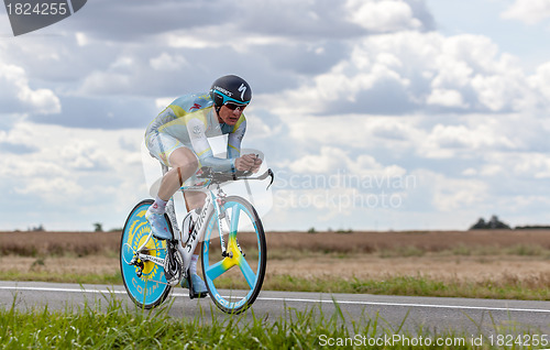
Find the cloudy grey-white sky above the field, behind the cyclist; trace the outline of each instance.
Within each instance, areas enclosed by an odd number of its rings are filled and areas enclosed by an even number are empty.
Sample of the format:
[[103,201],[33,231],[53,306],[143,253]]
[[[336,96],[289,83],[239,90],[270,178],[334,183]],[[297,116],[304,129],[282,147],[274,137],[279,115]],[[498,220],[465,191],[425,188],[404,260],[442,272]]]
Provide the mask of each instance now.
[[92,0],[20,36],[2,7],[0,230],[121,228],[148,122],[227,74],[268,231],[548,225],[549,42],[549,0]]

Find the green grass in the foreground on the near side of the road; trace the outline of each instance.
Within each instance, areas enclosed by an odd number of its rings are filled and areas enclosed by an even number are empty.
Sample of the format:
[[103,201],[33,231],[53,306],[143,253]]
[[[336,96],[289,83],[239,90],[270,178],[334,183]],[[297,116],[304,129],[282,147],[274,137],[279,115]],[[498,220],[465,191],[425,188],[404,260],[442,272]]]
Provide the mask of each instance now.
[[[474,347],[475,335],[405,329],[406,317],[397,326],[365,311],[353,319],[338,304],[330,315],[320,306],[285,307],[274,318],[257,318],[253,310],[232,316],[212,309],[174,318],[169,304],[142,311],[110,296],[78,309],[20,310],[16,305],[14,298],[11,307],[0,307],[0,349],[364,349],[372,348],[369,341],[382,343],[378,349],[496,349],[487,339]],[[421,344],[414,344],[419,337]],[[437,344],[438,339],[449,344]]]

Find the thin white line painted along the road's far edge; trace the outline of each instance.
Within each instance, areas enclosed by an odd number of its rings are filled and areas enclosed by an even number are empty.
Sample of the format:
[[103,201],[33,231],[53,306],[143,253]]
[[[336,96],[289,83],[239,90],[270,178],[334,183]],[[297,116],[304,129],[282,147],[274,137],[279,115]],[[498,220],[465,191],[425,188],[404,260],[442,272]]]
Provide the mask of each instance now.
[[[18,286],[0,286],[0,289],[8,291],[35,291],[35,292],[67,292],[67,293],[91,293],[91,294],[127,294],[125,291],[114,289],[78,289],[78,288],[53,288],[53,287],[18,287]],[[172,296],[188,296],[187,293],[172,293]],[[227,296],[224,296],[227,297]],[[285,302],[285,303],[310,303],[310,304],[334,304],[332,299],[305,299],[305,298],[276,298],[258,296],[257,300],[268,302]],[[336,300],[340,305],[365,305],[365,306],[400,306],[400,307],[429,307],[429,308],[449,308],[449,309],[471,309],[471,310],[491,310],[491,311],[520,311],[520,313],[547,313],[550,309],[540,308],[508,308],[508,307],[491,307],[491,306],[465,306],[465,305],[438,305],[438,304],[407,304],[407,303],[382,303],[382,302],[353,302],[353,300]]]

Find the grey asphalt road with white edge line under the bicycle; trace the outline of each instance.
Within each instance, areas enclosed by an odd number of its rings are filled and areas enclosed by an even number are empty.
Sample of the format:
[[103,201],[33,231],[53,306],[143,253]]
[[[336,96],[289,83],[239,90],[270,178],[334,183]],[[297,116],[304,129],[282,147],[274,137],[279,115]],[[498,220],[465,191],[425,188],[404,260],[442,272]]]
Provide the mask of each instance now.
[[[111,295],[130,309],[134,308],[123,286],[0,281],[0,307],[10,308],[15,303],[21,310],[42,309],[45,305],[50,309],[78,310],[98,302],[105,306]],[[191,300],[183,288],[174,289],[172,297],[169,314],[173,317],[194,319],[201,315],[205,321],[212,315],[224,317],[208,297]],[[334,302],[348,324],[366,325],[369,318],[377,317],[378,327],[389,332],[403,324],[411,333],[419,329],[439,333],[452,330],[463,336],[530,332],[546,335],[550,340],[550,302],[265,291],[252,308],[256,318],[276,321],[304,310],[322,311],[330,317],[336,311]],[[252,313],[246,311],[245,317],[252,317]]]

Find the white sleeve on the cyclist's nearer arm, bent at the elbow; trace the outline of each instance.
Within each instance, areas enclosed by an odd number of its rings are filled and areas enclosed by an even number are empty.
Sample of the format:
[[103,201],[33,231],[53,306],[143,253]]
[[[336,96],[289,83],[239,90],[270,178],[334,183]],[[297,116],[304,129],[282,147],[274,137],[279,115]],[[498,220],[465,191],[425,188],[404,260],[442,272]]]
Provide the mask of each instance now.
[[206,135],[205,121],[199,118],[189,118],[187,121],[187,132],[193,150],[199,158],[199,166],[209,166],[216,172],[235,172],[234,158],[218,158],[213,156],[212,149]]

